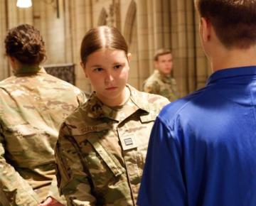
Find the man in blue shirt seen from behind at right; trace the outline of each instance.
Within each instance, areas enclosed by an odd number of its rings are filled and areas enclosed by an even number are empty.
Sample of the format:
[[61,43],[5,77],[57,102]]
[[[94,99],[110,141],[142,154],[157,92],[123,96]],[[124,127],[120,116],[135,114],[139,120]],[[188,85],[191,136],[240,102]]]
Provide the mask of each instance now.
[[256,1],[197,0],[213,74],[160,112],[139,206],[256,205]]

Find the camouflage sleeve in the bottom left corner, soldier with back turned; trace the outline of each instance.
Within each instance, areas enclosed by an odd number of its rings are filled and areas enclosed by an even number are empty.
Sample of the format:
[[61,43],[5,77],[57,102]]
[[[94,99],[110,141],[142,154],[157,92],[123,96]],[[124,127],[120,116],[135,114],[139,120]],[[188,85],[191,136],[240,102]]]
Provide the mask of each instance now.
[[38,205],[40,202],[38,195],[15,168],[6,162],[4,153],[4,134],[0,125],[0,183],[6,196],[4,198],[10,205]]

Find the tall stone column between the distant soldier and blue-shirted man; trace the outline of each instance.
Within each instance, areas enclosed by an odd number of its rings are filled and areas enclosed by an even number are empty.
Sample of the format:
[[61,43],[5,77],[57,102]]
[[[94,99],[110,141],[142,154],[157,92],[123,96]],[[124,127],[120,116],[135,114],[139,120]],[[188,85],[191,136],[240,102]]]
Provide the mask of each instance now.
[[174,53],[174,77],[181,95],[198,88],[198,34],[193,1],[171,1],[171,43]]

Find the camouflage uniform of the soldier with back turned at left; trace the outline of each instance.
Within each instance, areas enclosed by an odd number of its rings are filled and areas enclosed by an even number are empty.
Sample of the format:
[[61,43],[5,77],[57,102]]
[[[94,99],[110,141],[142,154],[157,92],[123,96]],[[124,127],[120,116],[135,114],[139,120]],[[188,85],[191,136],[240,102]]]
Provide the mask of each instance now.
[[54,146],[60,124],[82,102],[77,87],[40,67],[0,82],[0,186],[10,205],[38,205],[47,195],[61,201]]

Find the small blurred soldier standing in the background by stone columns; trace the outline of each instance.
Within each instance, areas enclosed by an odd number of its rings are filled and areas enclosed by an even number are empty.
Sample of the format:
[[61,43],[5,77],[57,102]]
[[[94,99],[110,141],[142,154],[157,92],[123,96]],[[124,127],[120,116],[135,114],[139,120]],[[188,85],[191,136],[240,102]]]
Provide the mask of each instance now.
[[178,88],[176,80],[171,77],[172,55],[170,50],[160,49],[154,56],[156,70],[145,80],[143,84],[144,92],[159,94],[173,102],[178,99]]

